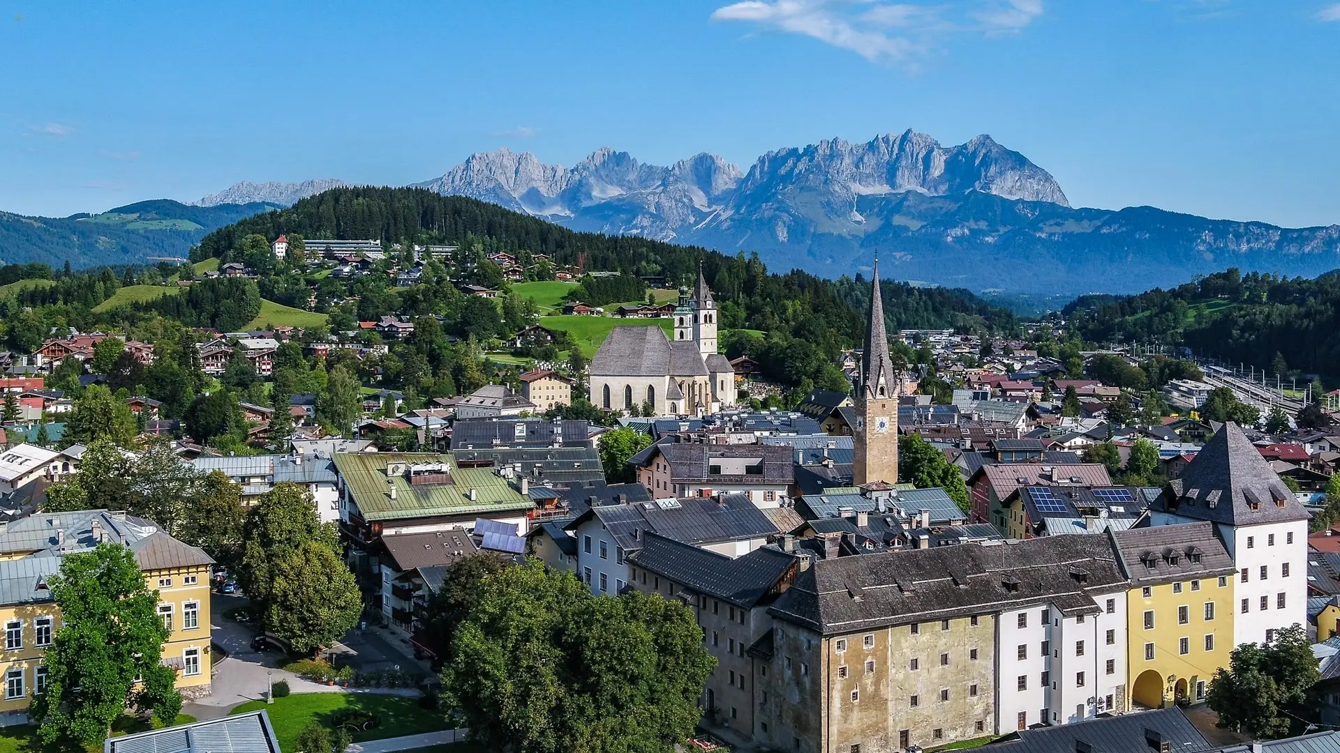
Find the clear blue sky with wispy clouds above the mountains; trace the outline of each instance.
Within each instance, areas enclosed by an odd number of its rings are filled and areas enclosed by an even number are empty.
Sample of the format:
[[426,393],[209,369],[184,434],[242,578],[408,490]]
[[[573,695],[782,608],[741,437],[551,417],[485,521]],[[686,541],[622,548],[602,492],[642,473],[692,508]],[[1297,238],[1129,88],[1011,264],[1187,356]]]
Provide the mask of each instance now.
[[1336,0],[7,3],[0,210],[978,133],[1072,204],[1340,222]]

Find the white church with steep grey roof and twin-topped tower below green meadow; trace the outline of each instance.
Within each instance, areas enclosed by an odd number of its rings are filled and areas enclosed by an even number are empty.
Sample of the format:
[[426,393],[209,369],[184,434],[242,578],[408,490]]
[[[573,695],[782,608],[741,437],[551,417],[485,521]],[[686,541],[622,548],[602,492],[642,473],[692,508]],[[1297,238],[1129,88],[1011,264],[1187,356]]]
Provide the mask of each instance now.
[[674,338],[657,326],[615,327],[587,375],[591,402],[604,410],[706,415],[734,407],[736,372],[717,352],[717,304],[702,269],[691,296],[681,288]]

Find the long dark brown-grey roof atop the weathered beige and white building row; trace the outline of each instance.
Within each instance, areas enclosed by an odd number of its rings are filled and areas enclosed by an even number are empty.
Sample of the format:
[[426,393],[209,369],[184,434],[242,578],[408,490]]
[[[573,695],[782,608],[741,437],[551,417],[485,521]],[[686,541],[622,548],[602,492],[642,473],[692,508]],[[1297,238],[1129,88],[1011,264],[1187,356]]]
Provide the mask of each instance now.
[[825,635],[1051,603],[1092,614],[1127,583],[1103,536],[1047,536],[820,560],[770,612]]

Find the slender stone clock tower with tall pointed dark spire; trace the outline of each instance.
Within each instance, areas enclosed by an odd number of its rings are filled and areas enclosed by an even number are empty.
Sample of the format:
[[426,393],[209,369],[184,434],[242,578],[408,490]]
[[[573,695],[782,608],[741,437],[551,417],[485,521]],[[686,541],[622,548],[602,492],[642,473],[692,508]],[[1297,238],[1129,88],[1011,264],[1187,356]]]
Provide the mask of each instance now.
[[884,334],[884,303],[879,295],[879,260],[875,260],[870,295],[870,326],[856,378],[856,425],[851,427],[852,484],[898,484],[898,374],[888,358]]

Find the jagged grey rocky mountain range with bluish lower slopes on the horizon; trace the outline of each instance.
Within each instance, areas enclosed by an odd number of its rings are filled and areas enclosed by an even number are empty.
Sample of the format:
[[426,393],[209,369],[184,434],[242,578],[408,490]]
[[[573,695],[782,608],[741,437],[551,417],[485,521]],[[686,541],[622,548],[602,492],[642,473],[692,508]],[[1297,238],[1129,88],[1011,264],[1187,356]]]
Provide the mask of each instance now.
[[[340,181],[237,184],[198,204],[291,204]],[[1013,292],[1135,292],[1244,269],[1340,267],[1340,226],[1286,229],[1154,208],[1075,209],[1056,180],[989,135],[942,146],[915,131],[821,141],[748,170],[713,154],[670,166],[599,149],[572,167],[509,149],[414,184],[579,230],[758,252],[825,276],[868,268],[904,280]]]

